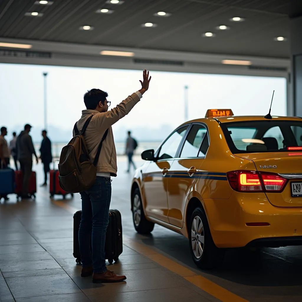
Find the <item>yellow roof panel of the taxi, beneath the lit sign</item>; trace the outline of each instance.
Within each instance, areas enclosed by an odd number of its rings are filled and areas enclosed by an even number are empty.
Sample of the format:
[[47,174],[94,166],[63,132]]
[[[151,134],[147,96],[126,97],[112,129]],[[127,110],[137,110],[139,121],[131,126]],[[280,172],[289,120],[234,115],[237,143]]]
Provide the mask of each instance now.
[[[187,123],[193,123],[193,122],[203,122],[205,123],[207,120],[217,120],[220,123],[231,123],[231,122],[249,122],[254,120],[267,120],[263,115],[242,115],[242,116],[222,116],[222,117],[204,117],[199,118],[196,120],[190,120]],[[292,116],[272,116],[272,119],[274,121],[278,120],[292,120],[292,121],[302,121],[301,117],[292,117]],[[185,123],[185,124],[187,124]]]

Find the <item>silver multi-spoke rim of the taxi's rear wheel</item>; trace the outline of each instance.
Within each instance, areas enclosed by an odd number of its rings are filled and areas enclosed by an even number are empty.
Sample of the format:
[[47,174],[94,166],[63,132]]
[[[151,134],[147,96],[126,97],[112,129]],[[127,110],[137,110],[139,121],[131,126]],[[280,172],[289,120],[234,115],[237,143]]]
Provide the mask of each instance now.
[[204,252],[204,226],[199,216],[195,216],[191,227],[191,244],[194,256],[200,259]]

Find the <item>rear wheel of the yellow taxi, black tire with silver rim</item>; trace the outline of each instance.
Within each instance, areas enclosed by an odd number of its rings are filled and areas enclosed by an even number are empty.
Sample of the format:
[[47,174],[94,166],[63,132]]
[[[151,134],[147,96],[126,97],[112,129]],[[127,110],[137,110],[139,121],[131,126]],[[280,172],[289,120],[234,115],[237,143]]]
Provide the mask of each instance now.
[[199,268],[216,268],[222,263],[224,250],[215,246],[203,208],[193,211],[188,233],[191,255]]

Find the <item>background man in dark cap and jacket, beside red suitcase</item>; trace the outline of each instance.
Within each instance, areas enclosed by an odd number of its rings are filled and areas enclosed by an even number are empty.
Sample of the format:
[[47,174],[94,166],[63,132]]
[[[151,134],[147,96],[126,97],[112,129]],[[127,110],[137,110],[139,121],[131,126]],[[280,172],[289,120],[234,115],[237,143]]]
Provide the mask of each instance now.
[[36,154],[33,141],[29,135],[31,131],[31,125],[26,124],[24,130],[21,131],[17,138],[17,154],[20,162],[21,171],[23,172],[23,192],[22,198],[30,198],[28,194],[29,182],[31,179],[31,170],[33,167],[33,154],[36,157],[37,163],[39,162]]

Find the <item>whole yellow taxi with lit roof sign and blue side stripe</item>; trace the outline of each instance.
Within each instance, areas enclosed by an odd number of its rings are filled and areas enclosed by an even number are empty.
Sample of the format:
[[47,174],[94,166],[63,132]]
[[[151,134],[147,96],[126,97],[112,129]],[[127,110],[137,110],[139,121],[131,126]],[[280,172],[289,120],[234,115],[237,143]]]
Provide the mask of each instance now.
[[135,229],[186,236],[198,267],[215,267],[225,248],[302,245],[302,118],[210,109],[142,159]]

